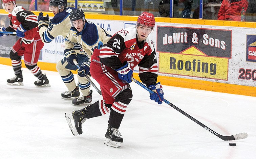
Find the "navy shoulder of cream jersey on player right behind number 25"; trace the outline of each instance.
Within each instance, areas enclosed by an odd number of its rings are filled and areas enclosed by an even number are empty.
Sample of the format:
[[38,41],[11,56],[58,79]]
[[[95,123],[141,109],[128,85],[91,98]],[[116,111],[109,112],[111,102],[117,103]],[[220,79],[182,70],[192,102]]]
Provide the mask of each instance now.
[[87,23],[83,29],[82,41],[89,46],[92,46],[98,42],[99,33],[97,26],[93,23]]

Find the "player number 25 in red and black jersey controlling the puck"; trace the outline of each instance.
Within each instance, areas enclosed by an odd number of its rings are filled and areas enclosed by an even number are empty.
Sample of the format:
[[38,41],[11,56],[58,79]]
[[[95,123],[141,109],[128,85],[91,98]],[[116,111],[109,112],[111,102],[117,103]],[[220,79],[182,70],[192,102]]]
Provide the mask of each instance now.
[[[162,104],[164,92],[160,82],[157,83],[155,46],[149,38],[154,25],[153,14],[143,12],[138,17],[136,27],[117,32],[101,50],[94,50],[91,56],[90,74],[100,84],[103,100],[65,114],[73,135],[82,134],[82,124],[87,118],[110,112],[104,144],[120,148],[123,138],[118,129],[132,100],[129,83],[136,65],[139,67],[141,81],[156,92],[150,94],[150,99]],[[81,66],[78,71],[85,70]]]

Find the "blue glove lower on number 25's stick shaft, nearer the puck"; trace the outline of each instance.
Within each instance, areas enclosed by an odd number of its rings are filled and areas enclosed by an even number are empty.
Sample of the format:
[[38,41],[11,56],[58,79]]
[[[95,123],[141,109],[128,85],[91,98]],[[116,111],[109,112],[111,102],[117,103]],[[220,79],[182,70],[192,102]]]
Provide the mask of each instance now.
[[163,92],[163,87],[160,84],[160,82],[154,84],[151,84],[148,86],[148,88],[150,90],[156,90],[156,93],[149,93],[149,97],[151,100],[154,100],[155,102],[157,102],[158,104],[162,104],[162,102],[164,101],[164,92]]

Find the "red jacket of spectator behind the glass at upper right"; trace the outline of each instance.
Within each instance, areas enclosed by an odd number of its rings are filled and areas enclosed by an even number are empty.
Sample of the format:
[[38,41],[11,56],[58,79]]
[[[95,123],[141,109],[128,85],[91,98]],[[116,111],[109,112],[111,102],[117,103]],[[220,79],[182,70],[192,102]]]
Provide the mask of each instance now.
[[241,10],[247,10],[247,0],[223,0],[218,12],[218,20],[241,21]]

